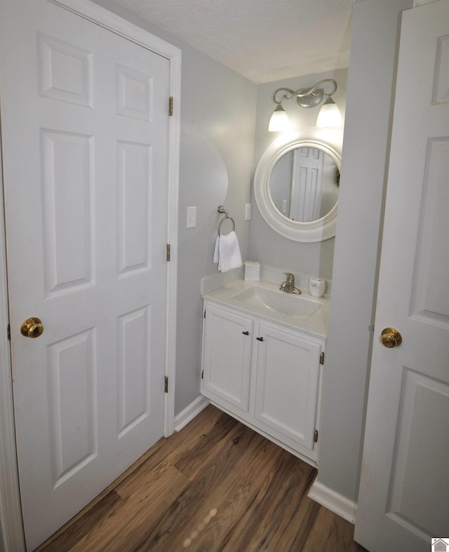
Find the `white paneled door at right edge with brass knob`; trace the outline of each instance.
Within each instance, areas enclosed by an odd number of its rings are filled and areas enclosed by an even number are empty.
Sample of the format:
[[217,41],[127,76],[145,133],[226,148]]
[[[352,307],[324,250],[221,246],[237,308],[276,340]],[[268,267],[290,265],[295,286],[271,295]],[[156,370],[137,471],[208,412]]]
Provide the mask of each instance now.
[[[449,512],[449,0],[403,13],[355,539],[428,551]],[[380,343],[394,327],[403,342]],[[393,343],[392,343],[393,344]]]

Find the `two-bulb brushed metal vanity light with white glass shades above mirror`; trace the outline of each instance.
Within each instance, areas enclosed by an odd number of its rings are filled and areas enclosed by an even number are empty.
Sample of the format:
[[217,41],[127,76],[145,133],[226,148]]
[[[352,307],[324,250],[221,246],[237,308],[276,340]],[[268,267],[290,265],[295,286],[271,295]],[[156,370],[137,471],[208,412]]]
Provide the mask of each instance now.
[[[333,85],[332,90],[326,92],[321,86],[324,83],[330,83]],[[282,107],[283,100],[291,100],[296,97],[296,102],[301,107],[315,107],[319,105],[324,96],[327,96],[326,102],[323,103],[318,119],[316,119],[316,126],[319,127],[337,127],[342,124],[342,116],[340,109],[332,99],[332,95],[337,90],[337,83],[334,79],[323,79],[319,81],[311,88],[300,88],[299,90],[292,90],[291,88],[278,88],[273,94],[274,103],[277,104],[271,119],[269,120],[268,130],[270,132],[279,132],[281,130],[289,130],[288,114]],[[282,95],[280,95],[282,93]],[[279,98],[279,99],[278,99]]]

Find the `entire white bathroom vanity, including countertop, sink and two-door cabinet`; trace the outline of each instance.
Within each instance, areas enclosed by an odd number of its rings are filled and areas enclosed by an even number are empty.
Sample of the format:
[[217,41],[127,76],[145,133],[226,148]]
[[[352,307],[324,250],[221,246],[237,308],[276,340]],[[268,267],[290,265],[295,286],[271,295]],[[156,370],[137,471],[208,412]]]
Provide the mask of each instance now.
[[316,466],[328,297],[237,280],[203,301],[201,393]]

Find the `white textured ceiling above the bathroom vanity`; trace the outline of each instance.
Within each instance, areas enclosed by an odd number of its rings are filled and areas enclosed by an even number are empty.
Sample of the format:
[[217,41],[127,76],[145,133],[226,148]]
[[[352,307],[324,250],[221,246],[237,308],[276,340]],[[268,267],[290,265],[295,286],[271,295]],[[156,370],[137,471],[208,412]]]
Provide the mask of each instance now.
[[255,83],[347,67],[363,0],[114,0]]

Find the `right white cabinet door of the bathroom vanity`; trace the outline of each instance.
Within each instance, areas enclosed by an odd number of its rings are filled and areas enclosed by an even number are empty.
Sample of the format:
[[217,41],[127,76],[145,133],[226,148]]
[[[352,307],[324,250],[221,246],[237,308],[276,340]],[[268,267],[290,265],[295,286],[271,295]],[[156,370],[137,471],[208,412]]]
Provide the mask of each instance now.
[[255,418],[290,446],[313,450],[321,344],[264,323],[257,337]]

